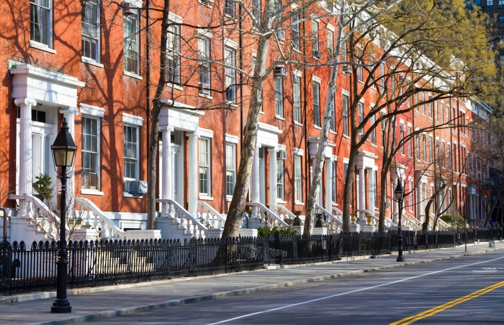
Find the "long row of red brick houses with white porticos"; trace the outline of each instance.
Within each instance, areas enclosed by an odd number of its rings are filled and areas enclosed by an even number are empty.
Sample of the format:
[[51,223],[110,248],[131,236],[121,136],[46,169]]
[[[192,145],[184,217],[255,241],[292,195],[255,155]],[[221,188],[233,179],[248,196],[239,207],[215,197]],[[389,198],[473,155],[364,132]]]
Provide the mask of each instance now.
[[[161,12],[149,8],[163,5],[160,0],[0,5],[6,18],[0,26],[0,193],[11,240],[53,235],[48,223],[56,220],[49,217],[55,215],[57,195],[39,200],[32,184],[47,174],[58,191],[50,145],[63,119],[79,147],[68,186],[69,201],[76,205],[70,218],[81,219],[86,227],[74,229],[76,236],[159,236],[142,232],[147,186],[156,187],[160,236],[219,236],[237,178],[242,130],[252,100],[250,84],[257,78],[254,71],[260,71],[256,39],[264,4],[251,2],[247,16],[232,1],[170,2],[167,73],[161,78]],[[257,226],[268,213],[281,220],[294,218],[295,211],[304,214],[326,107],[333,113],[318,212],[341,223],[356,124],[362,127],[357,131],[362,143],[350,173],[352,214],[377,220],[383,204],[388,228],[393,228],[398,211],[393,190],[401,181],[407,194],[405,213],[417,220],[410,227],[423,221],[433,196],[433,213],[453,213],[452,202],[459,207],[466,200],[473,202],[471,218],[478,218],[477,200],[467,198],[476,191],[467,191],[464,173],[471,137],[462,125],[474,119],[471,102],[450,98],[427,104],[429,94],[422,93],[417,99],[422,104],[414,110],[406,110],[413,99],[398,101],[392,110],[403,107],[405,112],[371,128],[390,113],[383,109],[374,114],[383,94],[402,96],[402,86],[393,80],[384,84],[393,67],[373,64],[380,60],[376,44],[366,55],[359,52],[358,64],[340,65],[336,92],[328,104],[331,69],[325,62],[334,56],[337,21],[327,14],[334,9],[323,3],[307,12],[296,13],[296,8],[283,8],[289,20],[269,41],[265,67],[272,69],[260,89],[263,103],[248,195],[249,226]],[[343,47],[341,61],[355,59],[358,46],[350,42],[347,51],[346,41]],[[159,83],[164,87],[157,94]],[[151,185],[147,154],[155,124],[152,100],[158,95],[163,107],[156,130],[157,182]],[[451,124],[458,126],[437,127]],[[422,129],[428,131],[413,136]],[[386,171],[382,187],[385,138],[390,132],[408,140]],[[384,203],[381,188],[386,191]],[[48,220],[39,223],[44,218]],[[359,223],[368,227],[362,229],[374,230],[376,225],[364,218]]]

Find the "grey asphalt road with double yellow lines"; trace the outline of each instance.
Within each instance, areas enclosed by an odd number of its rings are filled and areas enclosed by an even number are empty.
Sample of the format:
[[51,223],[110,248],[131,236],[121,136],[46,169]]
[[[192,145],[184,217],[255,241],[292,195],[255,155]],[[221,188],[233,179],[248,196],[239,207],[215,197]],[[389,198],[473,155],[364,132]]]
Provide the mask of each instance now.
[[504,324],[504,254],[409,265],[93,322],[102,323]]

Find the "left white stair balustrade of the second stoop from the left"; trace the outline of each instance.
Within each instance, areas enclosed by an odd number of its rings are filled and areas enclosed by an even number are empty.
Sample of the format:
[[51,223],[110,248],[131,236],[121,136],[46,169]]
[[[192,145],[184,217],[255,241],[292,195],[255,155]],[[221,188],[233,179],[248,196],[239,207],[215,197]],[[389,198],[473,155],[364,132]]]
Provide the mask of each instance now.
[[168,215],[171,216],[171,222],[176,222],[177,228],[183,229],[184,234],[188,234],[196,239],[206,237],[207,228],[178,202],[169,198],[158,198],[156,199],[156,203],[168,204]]

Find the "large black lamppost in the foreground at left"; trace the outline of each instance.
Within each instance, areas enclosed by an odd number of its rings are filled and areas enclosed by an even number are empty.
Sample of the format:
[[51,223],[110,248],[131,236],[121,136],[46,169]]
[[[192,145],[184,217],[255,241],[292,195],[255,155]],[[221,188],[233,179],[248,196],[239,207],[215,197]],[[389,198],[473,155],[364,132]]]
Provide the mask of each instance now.
[[69,178],[66,175],[66,168],[74,165],[75,152],[77,146],[71,134],[68,133],[68,123],[66,118],[63,119],[60,132],[56,136],[54,143],[51,146],[52,158],[54,159],[55,169],[58,172],[58,167],[61,167],[61,173],[58,178],[61,179],[61,200],[60,200],[60,243],[58,249],[57,266],[57,282],[56,282],[56,299],[52,303],[51,313],[71,313],[72,308],[68,299],[66,299],[66,278],[68,267],[68,250],[66,248],[66,180]]

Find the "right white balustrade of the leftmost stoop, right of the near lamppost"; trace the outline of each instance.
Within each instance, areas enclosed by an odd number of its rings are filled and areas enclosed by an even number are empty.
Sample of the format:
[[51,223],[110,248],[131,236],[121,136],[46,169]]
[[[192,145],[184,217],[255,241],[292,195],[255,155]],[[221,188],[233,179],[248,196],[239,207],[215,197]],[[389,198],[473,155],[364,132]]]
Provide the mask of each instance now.
[[126,232],[117,227],[92,201],[84,197],[75,198],[77,219],[81,219],[82,226],[91,226],[99,230],[102,239],[127,239]]

